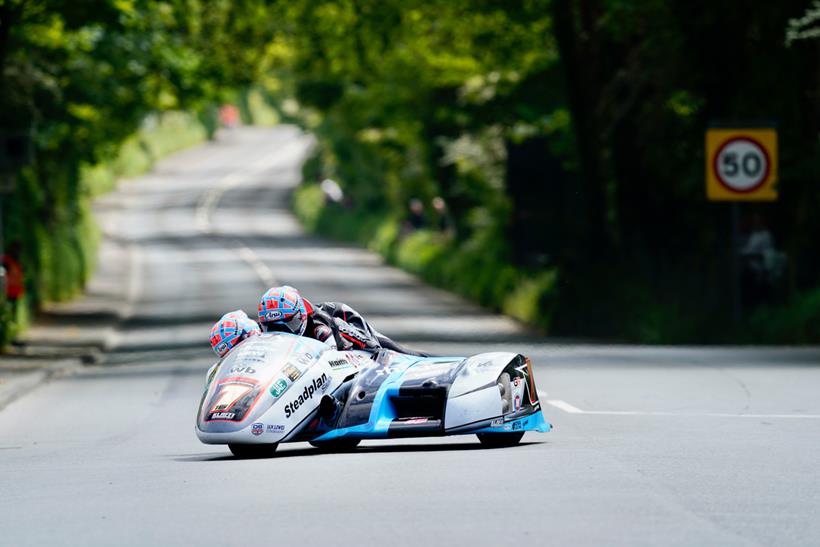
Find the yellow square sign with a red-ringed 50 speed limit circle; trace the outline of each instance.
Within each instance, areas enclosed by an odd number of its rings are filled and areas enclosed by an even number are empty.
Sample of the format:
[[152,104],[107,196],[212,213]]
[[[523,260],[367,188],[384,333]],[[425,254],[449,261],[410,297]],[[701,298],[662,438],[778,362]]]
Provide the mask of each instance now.
[[771,128],[706,132],[706,195],[713,201],[777,199],[777,132]]

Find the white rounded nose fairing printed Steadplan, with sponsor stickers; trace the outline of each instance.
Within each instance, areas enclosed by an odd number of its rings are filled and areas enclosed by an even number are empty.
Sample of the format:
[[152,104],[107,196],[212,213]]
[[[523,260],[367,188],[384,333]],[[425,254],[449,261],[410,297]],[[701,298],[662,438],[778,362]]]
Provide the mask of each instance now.
[[289,334],[248,338],[218,364],[200,403],[197,437],[208,444],[279,442],[358,370],[361,358]]

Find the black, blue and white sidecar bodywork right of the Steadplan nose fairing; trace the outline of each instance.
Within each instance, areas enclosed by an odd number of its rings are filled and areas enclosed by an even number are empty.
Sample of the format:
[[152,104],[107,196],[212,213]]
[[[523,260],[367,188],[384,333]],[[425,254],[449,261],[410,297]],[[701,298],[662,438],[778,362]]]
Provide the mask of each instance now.
[[531,365],[521,355],[492,353],[468,359],[392,355],[390,361],[360,373],[337,428],[316,440],[551,428],[541,413]]

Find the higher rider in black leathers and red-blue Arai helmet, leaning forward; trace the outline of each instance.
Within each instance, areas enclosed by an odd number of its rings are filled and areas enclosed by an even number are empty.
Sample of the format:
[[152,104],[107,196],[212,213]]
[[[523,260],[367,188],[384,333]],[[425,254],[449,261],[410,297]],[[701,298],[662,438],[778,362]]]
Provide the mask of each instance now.
[[259,301],[259,325],[265,332],[288,332],[314,338],[340,350],[378,352],[389,349],[427,357],[384,336],[360,313],[341,302],[312,304],[299,291],[284,285],[272,287]]

